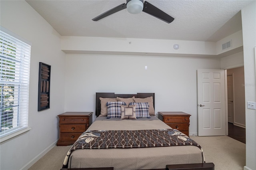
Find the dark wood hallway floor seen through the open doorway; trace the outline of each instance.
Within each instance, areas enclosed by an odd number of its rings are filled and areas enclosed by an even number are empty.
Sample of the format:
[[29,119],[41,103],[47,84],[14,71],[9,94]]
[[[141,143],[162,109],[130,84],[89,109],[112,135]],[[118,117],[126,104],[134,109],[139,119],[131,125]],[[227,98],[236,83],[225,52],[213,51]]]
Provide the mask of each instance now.
[[240,142],[245,143],[245,128],[238,127],[233,123],[228,123],[228,136],[230,138],[236,139]]

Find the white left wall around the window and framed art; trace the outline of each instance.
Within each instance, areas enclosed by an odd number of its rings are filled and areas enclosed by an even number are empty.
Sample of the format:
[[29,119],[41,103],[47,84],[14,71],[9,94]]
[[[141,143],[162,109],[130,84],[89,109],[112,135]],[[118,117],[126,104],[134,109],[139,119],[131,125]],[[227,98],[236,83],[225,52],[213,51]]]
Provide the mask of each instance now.
[[[60,35],[25,1],[0,1],[1,26],[30,41],[30,90],[26,134],[1,144],[0,169],[28,168],[58,139],[57,115],[64,112],[65,53]],[[39,62],[51,65],[50,109],[37,111]]]

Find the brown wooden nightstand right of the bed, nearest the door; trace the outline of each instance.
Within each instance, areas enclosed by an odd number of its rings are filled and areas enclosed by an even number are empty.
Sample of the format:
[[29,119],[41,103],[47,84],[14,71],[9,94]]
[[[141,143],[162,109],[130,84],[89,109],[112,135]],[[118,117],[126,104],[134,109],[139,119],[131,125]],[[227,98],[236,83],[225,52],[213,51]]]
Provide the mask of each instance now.
[[189,115],[184,112],[158,112],[158,118],[171,128],[189,136]]

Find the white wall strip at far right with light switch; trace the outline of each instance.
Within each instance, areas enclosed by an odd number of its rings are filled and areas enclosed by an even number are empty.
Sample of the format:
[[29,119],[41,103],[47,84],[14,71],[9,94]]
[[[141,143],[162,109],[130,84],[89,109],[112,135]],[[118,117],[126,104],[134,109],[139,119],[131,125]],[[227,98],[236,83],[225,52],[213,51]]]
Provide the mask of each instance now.
[[[242,9],[244,43],[245,104],[256,101],[255,53],[256,47],[256,1]],[[247,107],[246,107],[247,108]],[[244,170],[256,170],[256,110],[246,109],[246,166]]]

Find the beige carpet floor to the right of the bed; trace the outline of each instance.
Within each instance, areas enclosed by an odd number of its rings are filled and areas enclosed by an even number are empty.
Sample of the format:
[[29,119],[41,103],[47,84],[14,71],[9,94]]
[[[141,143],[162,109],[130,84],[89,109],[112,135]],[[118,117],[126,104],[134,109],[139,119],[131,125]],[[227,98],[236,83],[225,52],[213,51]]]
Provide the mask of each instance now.
[[190,136],[204,151],[206,162],[215,170],[243,170],[246,164],[245,144],[229,136]]

